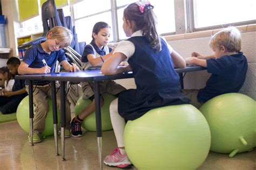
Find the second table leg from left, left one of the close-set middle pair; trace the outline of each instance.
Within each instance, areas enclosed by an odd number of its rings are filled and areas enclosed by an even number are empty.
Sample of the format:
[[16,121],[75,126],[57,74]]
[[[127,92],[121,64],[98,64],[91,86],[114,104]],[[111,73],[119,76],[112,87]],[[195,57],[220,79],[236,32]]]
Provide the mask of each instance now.
[[58,149],[58,116],[57,116],[57,101],[56,101],[56,84],[55,81],[51,81],[51,96],[52,96],[52,116],[53,116],[53,129],[56,156],[59,155]]

